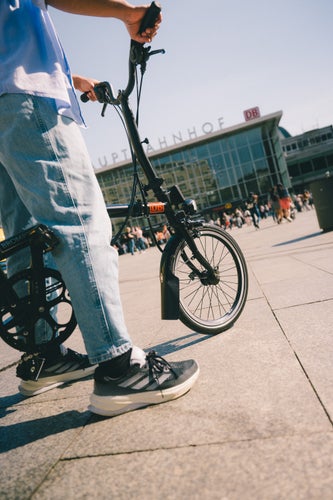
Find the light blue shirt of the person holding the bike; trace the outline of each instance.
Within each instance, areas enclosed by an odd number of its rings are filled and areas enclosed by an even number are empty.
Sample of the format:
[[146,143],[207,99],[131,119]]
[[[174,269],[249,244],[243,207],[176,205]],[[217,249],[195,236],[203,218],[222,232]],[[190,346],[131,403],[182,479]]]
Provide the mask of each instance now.
[[5,93],[53,98],[59,114],[83,124],[45,0],[0,0],[0,95]]

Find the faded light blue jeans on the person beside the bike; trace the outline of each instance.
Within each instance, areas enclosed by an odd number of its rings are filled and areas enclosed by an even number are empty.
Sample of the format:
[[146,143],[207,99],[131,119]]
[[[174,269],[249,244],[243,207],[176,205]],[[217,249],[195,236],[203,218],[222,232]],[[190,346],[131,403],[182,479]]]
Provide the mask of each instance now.
[[[7,237],[42,223],[60,239],[53,258],[69,290],[91,363],[131,347],[111,223],[79,127],[52,99],[0,97],[0,212]],[[11,258],[9,272],[27,267]],[[25,262],[24,262],[25,260]]]

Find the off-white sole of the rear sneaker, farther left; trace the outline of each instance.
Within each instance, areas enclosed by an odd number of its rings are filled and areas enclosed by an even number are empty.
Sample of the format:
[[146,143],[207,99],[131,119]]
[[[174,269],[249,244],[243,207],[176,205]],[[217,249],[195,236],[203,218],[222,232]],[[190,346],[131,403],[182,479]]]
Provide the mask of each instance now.
[[38,394],[50,391],[51,389],[55,389],[56,387],[68,382],[89,377],[94,373],[95,369],[96,366],[89,366],[83,370],[62,373],[59,375],[53,375],[52,377],[40,378],[38,380],[21,380],[18,390],[23,396],[37,396]]

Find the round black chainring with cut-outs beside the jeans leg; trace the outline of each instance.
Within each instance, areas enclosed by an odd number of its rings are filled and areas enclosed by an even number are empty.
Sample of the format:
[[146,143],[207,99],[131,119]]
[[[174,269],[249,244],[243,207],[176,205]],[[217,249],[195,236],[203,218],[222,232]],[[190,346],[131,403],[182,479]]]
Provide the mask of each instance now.
[[[15,289],[25,290],[19,293],[17,304],[1,303],[0,337],[11,347],[22,352],[37,353],[50,346],[63,343],[74,331],[77,322],[74,310],[61,274],[49,268],[43,269],[46,283],[46,302],[43,310],[36,310],[30,293],[33,276],[31,269],[24,269],[8,278]],[[16,310],[20,311],[16,314]],[[31,325],[23,324],[23,316],[33,318]],[[37,344],[35,340],[36,323],[42,320],[49,326],[49,340]]]

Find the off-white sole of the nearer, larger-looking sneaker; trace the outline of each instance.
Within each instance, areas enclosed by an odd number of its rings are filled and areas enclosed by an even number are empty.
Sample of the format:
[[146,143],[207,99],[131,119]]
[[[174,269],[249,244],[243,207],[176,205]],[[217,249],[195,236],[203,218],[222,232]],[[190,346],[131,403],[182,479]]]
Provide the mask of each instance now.
[[88,410],[103,417],[115,417],[129,411],[144,408],[145,406],[157,405],[166,403],[173,399],[177,399],[186,394],[199,376],[199,368],[182,384],[169,389],[157,391],[142,391],[137,394],[129,394],[128,396],[90,396],[90,405]]

